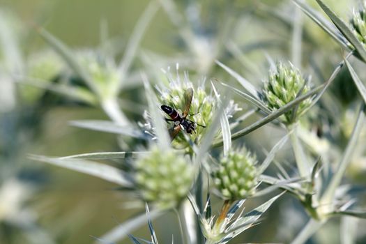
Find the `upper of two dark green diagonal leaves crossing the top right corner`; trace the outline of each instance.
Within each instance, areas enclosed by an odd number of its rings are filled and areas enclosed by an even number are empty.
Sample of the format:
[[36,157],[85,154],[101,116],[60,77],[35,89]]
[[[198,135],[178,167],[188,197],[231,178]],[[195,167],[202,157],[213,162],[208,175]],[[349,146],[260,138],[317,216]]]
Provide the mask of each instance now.
[[347,38],[347,40],[349,40],[349,42],[353,45],[353,47],[355,47],[358,54],[360,54],[360,58],[366,62],[366,50],[363,48],[362,43],[360,43],[360,41],[353,34],[351,29],[349,29],[349,26],[346,23],[344,23],[344,21],[341,20],[340,17],[337,17],[337,15],[335,15],[335,13],[332,10],[330,10],[330,8],[326,6],[326,4],[323,3],[323,1],[317,0],[317,3],[323,9],[326,15],[328,15],[330,20],[332,20],[335,26],[337,26],[338,30],[342,32],[344,37]]

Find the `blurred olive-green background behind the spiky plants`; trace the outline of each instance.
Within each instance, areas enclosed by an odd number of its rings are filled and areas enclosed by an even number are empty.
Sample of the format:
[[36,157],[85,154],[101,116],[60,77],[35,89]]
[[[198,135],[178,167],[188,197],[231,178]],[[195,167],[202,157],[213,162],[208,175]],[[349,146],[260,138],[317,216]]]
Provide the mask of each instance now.
[[[10,29],[15,33],[18,31],[19,46],[25,63],[32,54],[48,48],[38,35],[37,26],[44,27],[63,43],[75,49],[93,49],[100,46],[101,30],[107,26],[108,36],[112,40],[114,48],[118,50],[116,59],[119,59],[148,2],[1,0],[0,14],[3,17],[10,17],[11,24],[14,24]],[[194,1],[177,1],[178,8],[183,15],[186,11],[184,6],[191,2]],[[353,3],[351,1],[328,2],[342,17],[347,17],[351,13],[351,11],[346,11],[351,8]],[[224,38],[223,43],[227,40],[234,40],[245,54],[245,59],[240,59],[241,57],[225,50],[216,58],[246,77],[254,79],[257,84],[260,84],[261,79],[266,77],[268,69],[266,55],[270,55],[276,60],[291,59],[291,38],[289,36],[291,36],[291,13],[295,10],[295,6],[290,1],[206,0],[199,1],[199,4],[202,6],[199,15],[201,25],[206,30],[207,36],[217,35],[218,29],[224,28],[224,24],[231,22],[229,24],[234,27],[222,34],[227,36],[220,36],[220,38]],[[335,63],[340,60],[341,52],[333,40],[326,36],[319,27],[305,17],[304,22],[302,60],[304,70],[314,73],[314,69],[310,68],[310,61],[314,59],[321,69],[321,73],[327,77]],[[141,44],[142,50],[146,52],[166,56],[167,61],[165,62],[160,62],[159,59],[156,63],[151,63],[155,69],[166,68],[166,66],[160,66],[162,63],[174,66],[182,56],[189,58],[194,56],[192,52],[187,51],[186,44],[178,31],[165,11],[160,8],[144,34]],[[224,46],[224,44],[222,45]],[[3,59],[3,55],[1,56]],[[198,54],[197,58],[199,58]],[[135,68],[142,68],[144,65],[144,61],[140,59],[134,63]],[[215,65],[213,64],[213,66]],[[192,67],[188,66],[187,70],[190,68]],[[184,70],[184,68],[182,69]],[[2,71],[5,72],[4,70],[5,68]],[[229,75],[217,67],[201,73],[192,71],[192,76],[194,75],[197,75],[195,77],[201,75],[208,78],[218,77],[228,82],[232,80]],[[3,75],[1,74],[1,76]],[[14,101],[9,103],[7,109],[3,107],[0,114],[0,164],[2,165],[1,175],[3,175],[1,181],[2,185],[6,185],[6,182],[13,183],[14,178],[21,179],[25,184],[20,187],[22,188],[20,192],[24,192],[22,194],[25,199],[20,202],[15,200],[14,204],[10,203],[13,206],[20,204],[11,214],[6,204],[1,205],[0,203],[0,243],[31,243],[30,240],[38,239],[39,241],[40,239],[46,240],[46,238],[54,240],[54,243],[93,243],[91,236],[102,236],[119,223],[135,215],[137,213],[135,209],[131,211],[123,206],[123,203],[128,200],[128,195],[114,190],[115,185],[98,178],[27,159],[29,154],[63,156],[93,151],[118,151],[119,144],[114,135],[68,125],[68,121],[71,120],[107,119],[107,116],[98,108],[80,105],[39,89],[27,88],[18,84],[16,86],[17,89],[13,92],[6,91],[5,86],[2,87],[3,91],[0,91],[0,96],[8,93],[8,95],[10,94],[9,100]],[[32,97],[34,93],[38,93],[38,95]],[[137,93],[136,89],[130,89],[123,91],[123,96],[132,99],[135,93]],[[144,104],[144,101],[139,101],[139,103]],[[240,105],[244,108],[246,106],[243,102]],[[132,112],[126,109],[126,113],[133,118],[141,119],[142,109]],[[270,129],[270,131],[273,130],[273,128]],[[261,129],[253,133],[245,144],[257,151],[260,151],[260,146],[270,148],[270,145],[273,145],[275,139],[278,139],[280,135],[273,140],[268,140],[268,131]],[[263,156],[263,152],[261,153]],[[283,155],[283,157],[291,158],[291,155]],[[357,174],[357,167],[355,172]],[[0,195],[0,198],[4,196],[7,199],[10,198],[9,195],[3,193],[5,190],[0,192],[3,194]],[[25,193],[31,194],[26,197]],[[0,199],[0,201],[4,203],[5,199]],[[300,227],[305,222],[306,215],[302,211],[293,213],[293,209],[296,209],[298,203],[291,200],[289,196],[284,197],[281,203],[281,206],[280,204],[273,206],[270,213],[265,215],[265,219],[262,221],[264,224],[260,224],[257,228],[247,231],[241,238],[237,238],[237,243],[291,240],[291,236],[298,229],[284,231],[279,226],[285,226],[286,218],[291,218],[291,221],[294,222],[293,227]],[[255,201],[247,208],[250,209],[251,206],[255,206]],[[154,222],[158,236],[162,240],[169,240],[171,234],[179,236],[178,230],[174,230],[174,233],[165,231],[168,226],[167,222],[174,221],[174,215],[171,214]],[[316,236],[312,242],[337,243],[339,241],[337,236],[327,236],[327,240],[321,239],[324,238],[324,233],[337,233],[337,222],[339,220],[335,220],[335,224],[330,222],[322,234]],[[174,224],[176,223],[174,222]],[[286,228],[290,228],[288,225],[287,223]],[[148,238],[147,225],[134,234]],[[42,242],[34,241],[33,243]],[[129,241],[125,240],[121,243],[129,243]]]

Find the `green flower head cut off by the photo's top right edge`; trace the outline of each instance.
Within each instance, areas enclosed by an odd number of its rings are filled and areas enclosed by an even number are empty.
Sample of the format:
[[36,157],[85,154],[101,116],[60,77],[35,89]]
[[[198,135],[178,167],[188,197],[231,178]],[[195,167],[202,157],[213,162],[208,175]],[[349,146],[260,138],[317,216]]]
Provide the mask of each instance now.
[[351,29],[355,36],[366,48],[366,1],[363,1],[363,6],[360,10],[353,10],[353,17],[351,19]]

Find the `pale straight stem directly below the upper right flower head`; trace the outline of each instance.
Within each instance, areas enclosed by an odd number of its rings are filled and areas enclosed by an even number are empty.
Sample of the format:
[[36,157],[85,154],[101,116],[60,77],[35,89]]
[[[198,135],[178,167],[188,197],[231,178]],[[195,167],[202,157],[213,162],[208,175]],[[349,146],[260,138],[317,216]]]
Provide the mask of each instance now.
[[296,165],[298,167],[300,176],[307,179],[310,177],[311,168],[309,163],[307,162],[303,146],[301,146],[300,140],[298,139],[297,127],[297,123],[293,123],[288,126],[289,136],[291,139],[293,154],[295,155]]

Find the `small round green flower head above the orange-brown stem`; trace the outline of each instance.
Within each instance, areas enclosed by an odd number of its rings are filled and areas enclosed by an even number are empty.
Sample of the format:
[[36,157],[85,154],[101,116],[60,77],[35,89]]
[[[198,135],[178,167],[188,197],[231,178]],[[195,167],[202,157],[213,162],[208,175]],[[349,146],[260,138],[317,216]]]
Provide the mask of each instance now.
[[244,199],[254,194],[258,184],[257,160],[245,147],[220,156],[213,181],[224,199]]

